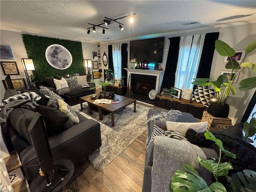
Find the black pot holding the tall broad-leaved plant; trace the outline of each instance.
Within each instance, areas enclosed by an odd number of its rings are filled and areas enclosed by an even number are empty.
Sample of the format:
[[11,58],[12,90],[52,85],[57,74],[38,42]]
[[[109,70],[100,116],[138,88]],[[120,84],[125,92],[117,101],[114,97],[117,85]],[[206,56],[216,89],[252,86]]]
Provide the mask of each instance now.
[[217,105],[215,103],[211,103],[207,112],[214,117],[227,118],[229,114],[229,105]]

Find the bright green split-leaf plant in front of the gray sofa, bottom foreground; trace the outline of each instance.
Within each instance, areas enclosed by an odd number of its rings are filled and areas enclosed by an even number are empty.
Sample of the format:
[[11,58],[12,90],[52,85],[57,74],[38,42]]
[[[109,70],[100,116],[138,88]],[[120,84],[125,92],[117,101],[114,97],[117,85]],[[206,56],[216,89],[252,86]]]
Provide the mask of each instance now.
[[215,162],[215,158],[212,160],[203,160],[199,156],[197,160],[199,163],[208,169],[214,176],[216,182],[212,183],[208,186],[205,180],[199,176],[198,172],[194,170],[191,166],[184,164],[183,170],[176,170],[172,180],[169,183],[169,191],[170,192],[226,192],[226,188],[220,182],[218,182],[218,176],[226,176],[228,174],[228,170],[233,169],[233,166],[230,162],[220,163],[221,160],[221,152],[224,152],[226,156],[236,158],[236,155],[225,150],[222,145],[222,141],[215,138],[215,136],[211,132],[204,133],[205,138],[208,140],[212,140],[219,147],[219,160],[218,163]]

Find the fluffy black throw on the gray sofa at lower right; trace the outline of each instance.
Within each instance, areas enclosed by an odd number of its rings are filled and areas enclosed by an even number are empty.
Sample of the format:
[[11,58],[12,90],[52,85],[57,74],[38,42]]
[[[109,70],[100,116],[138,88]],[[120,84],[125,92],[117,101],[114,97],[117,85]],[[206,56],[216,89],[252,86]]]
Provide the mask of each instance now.
[[[228,171],[228,175],[236,172],[250,169],[256,171],[256,148],[250,143],[237,138],[236,136],[228,136],[224,134],[213,133],[217,139],[222,141],[225,150],[232,152],[236,158],[230,158],[222,152],[221,161],[231,162],[234,169]],[[199,147],[212,148],[219,154],[218,146],[212,140],[206,140],[204,133],[197,133],[192,129],[186,132],[188,141]]]

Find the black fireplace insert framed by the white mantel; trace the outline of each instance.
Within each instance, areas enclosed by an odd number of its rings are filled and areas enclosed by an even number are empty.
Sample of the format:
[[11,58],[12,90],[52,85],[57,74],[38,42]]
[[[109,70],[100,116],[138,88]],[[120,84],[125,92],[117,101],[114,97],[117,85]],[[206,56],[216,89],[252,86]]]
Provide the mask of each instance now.
[[148,96],[152,89],[156,89],[156,76],[131,74],[131,91],[133,94]]

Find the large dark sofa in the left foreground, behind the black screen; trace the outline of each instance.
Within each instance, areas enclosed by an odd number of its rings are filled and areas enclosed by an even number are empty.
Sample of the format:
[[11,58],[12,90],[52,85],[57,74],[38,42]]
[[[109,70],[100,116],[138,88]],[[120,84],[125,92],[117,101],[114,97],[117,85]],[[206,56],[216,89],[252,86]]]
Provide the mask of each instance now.
[[[7,91],[8,92],[8,91]],[[12,95],[15,93],[11,91]],[[9,94],[10,96],[10,94]],[[8,94],[5,94],[8,97]],[[35,115],[35,111],[17,106],[7,118],[7,126],[3,125],[2,136],[9,152],[18,153],[25,176],[30,183],[38,175],[38,160],[32,142],[28,139],[27,128]],[[99,122],[88,119],[77,113],[80,122],[71,128],[48,138],[54,160],[69,159],[76,166],[102,145]],[[1,112],[2,116],[2,112]],[[10,144],[11,139],[11,144]]]

